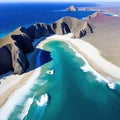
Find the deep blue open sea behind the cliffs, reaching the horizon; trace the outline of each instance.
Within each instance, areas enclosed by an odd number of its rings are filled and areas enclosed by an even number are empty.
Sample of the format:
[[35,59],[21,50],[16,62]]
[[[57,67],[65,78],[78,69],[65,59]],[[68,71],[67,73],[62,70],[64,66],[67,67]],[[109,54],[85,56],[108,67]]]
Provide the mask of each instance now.
[[36,22],[52,23],[63,16],[81,19],[93,13],[62,11],[70,5],[76,7],[95,6],[94,3],[1,3],[0,4],[0,36],[5,36],[19,26],[30,26]]

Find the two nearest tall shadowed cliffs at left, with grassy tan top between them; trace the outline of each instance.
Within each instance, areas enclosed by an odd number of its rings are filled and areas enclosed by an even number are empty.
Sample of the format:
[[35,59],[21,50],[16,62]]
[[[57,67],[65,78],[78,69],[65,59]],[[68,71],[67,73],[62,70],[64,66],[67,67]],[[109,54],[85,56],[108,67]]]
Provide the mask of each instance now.
[[0,75],[10,70],[14,74],[25,72],[29,66],[25,54],[34,50],[27,29],[19,27],[2,41],[5,42],[0,48]]

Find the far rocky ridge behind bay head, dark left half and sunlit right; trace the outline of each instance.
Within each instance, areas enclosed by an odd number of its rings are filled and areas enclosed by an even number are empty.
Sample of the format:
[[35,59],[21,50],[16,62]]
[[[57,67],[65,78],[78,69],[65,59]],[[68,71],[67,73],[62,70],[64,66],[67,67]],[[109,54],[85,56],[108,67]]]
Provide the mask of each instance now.
[[36,23],[30,26],[27,31],[31,34],[33,39],[45,37],[50,34],[64,35],[70,32],[73,34],[74,38],[81,38],[87,33],[93,33],[93,27],[87,20],[80,21],[77,18],[66,16],[51,25]]

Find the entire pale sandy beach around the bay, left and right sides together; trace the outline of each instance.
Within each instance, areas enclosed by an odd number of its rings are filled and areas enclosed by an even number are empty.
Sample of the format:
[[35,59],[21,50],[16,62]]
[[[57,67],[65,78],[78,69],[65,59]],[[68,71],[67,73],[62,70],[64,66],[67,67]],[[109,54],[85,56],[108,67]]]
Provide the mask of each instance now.
[[[42,42],[39,43],[36,48],[41,48],[42,46],[48,42],[53,40],[60,40],[70,44],[79,54],[81,54],[87,62],[90,64],[92,68],[94,68],[98,73],[103,75],[106,78],[112,78],[117,82],[120,80],[120,68],[112,63],[106,61],[101,55],[100,52],[90,43],[87,43],[81,39],[72,39],[72,34],[67,35],[52,35],[47,37]],[[29,62],[31,64],[31,69],[33,66],[36,65],[36,56],[37,56],[37,49],[30,53],[27,57],[29,58]],[[106,69],[107,68],[107,69]],[[8,75],[8,76],[1,76],[1,84],[0,84],[0,107],[6,102],[8,97],[19,87],[24,85],[28,81],[28,78],[34,73],[34,70],[30,72],[26,72],[22,75]]]

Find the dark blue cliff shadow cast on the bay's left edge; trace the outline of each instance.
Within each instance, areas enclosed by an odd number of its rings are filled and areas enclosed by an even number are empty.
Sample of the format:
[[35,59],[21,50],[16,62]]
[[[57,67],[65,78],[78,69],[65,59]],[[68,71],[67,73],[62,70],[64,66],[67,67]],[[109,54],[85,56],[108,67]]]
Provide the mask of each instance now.
[[[32,64],[31,60],[29,60],[30,67],[27,69],[26,72],[35,70],[36,68],[41,67],[42,65],[53,60],[53,58],[51,57],[51,52],[42,50],[42,49],[38,49],[38,48],[36,50],[37,50],[37,55],[36,55],[36,59],[34,61],[35,65]],[[34,54],[34,53],[32,53],[32,54]]]

